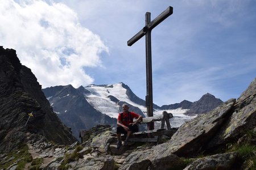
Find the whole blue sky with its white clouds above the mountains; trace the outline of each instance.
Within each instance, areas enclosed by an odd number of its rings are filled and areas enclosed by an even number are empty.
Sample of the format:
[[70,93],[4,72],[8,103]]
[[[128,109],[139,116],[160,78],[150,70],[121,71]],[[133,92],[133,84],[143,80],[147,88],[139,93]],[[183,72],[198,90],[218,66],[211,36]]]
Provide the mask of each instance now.
[[145,40],[127,41],[168,6],[151,34],[154,103],[238,98],[256,77],[255,1],[2,0],[0,45],[43,88],[123,82],[144,99]]

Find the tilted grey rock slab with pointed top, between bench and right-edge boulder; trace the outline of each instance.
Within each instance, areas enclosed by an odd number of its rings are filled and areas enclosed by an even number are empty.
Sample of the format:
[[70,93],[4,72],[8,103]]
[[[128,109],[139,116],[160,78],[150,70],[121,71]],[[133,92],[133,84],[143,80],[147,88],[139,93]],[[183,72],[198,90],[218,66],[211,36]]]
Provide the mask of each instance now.
[[177,156],[197,154],[201,147],[216,134],[235,101],[236,99],[230,99],[212,112],[201,114],[183,124],[167,142],[168,150],[166,151]]

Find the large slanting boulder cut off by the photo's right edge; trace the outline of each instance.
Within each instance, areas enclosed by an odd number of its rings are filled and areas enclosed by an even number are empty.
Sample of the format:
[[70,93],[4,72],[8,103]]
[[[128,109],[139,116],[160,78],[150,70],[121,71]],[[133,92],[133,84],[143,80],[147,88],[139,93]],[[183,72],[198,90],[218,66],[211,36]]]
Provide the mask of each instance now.
[[256,78],[237,99],[232,115],[214,138],[208,143],[208,150],[224,147],[226,143],[236,141],[256,126]]

